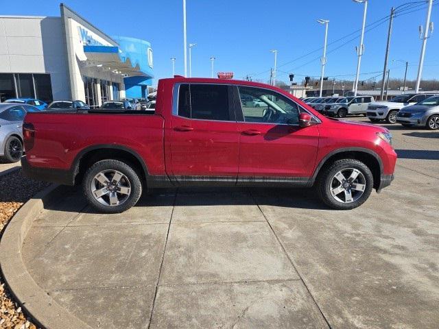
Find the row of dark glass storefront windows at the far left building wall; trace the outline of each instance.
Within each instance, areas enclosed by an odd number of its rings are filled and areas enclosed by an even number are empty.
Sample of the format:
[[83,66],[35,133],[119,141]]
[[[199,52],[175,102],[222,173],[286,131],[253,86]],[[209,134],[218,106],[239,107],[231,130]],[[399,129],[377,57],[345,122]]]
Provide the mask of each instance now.
[[0,101],[15,97],[53,101],[49,74],[0,73]]

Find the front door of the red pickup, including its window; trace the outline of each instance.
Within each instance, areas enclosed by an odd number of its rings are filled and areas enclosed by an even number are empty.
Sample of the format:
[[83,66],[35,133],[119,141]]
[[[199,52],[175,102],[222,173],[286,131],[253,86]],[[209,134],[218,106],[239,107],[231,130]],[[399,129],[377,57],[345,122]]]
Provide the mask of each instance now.
[[317,125],[299,127],[300,107],[284,95],[264,88],[239,86],[241,102],[239,184],[307,182],[318,151]]

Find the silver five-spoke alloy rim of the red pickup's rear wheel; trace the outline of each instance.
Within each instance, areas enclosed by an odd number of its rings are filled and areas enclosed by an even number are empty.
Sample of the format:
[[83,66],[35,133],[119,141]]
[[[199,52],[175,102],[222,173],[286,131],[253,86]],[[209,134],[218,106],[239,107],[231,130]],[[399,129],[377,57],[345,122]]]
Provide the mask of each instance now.
[[104,206],[119,206],[130,197],[130,180],[120,171],[104,170],[91,181],[91,193]]

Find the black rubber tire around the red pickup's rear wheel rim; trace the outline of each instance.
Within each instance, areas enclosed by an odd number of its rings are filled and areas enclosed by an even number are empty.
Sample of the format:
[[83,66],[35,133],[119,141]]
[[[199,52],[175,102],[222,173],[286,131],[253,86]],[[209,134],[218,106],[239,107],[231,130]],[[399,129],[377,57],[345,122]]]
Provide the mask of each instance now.
[[[115,180],[112,180],[112,178],[114,178],[114,176],[111,176],[112,171],[117,171],[123,175],[122,178],[119,178],[121,182],[123,181],[123,186],[118,187],[119,184],[117,184],[117,186],[112,186],[112,184],[115,183]],[[97,180],[95,180],[95,177],[99,173],[103,172],[105,173],[105,175],[108,175],[108,177],[106,178],[108,178],[108,184],[110,184],[110,189],[106,188],[104,184],[101,184],[97,182]],[[139,176],[139,173],[137,173],[133,169],[130,163],[122,162],[120,160],[101,160],[88,168],[84,175],[84,179],[82,180],[82,188],[84,190],[84,195],[88,200],[88,203],[91,204],[93,208],[95,208],[99,212],[115,214],[128,210],[139,201],[139,198],[142,194],[142,183]],[[100,188],[106,189],[107,192],[99,198],[100,201],[97,199],[97,197],[95,197],[95,194],[93,194],[93,187],[96,188],[95,193]],[[127,195],[126,193],[122,194],[116,192],[118,188],[119,191],[121,191],[121,187],[128,188],[127,191],[129,194]],[[114,197],[115,195],[115,199],[117,199],[117,202],[120,202],[120,204],[110,205],[110,203],[112,202],[110,200],[110,195],[112,197]],[[119,197],[121,197],[120,200]]]

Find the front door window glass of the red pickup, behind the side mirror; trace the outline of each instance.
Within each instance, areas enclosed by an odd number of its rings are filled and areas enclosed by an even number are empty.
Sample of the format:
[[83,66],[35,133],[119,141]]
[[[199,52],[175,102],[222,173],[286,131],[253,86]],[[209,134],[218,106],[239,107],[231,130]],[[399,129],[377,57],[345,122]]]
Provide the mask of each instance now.
[[299,122],[298,105],[291,99],[272,90],[239,87],[241,99],[252,98],[252,102],[242,106],[244,121],[254,123],[277,123],[296,125]]

